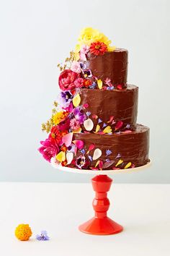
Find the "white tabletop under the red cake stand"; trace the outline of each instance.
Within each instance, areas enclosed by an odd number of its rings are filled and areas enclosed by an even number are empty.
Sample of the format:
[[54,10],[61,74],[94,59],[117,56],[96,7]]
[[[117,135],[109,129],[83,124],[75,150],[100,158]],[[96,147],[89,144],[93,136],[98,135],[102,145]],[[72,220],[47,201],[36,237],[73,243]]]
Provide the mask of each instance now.
[[[112,184],[109,217],[124,226],[111,236],[81,233],[93,216],[91,184],[0,183],[0,253],[3,256],[168,256],[170,255],[170,185]],[[19,223],[33,236],[20,242]],[[50,241],[35,235],[47,230]],[[3,252],[3,253],[2,253]]]

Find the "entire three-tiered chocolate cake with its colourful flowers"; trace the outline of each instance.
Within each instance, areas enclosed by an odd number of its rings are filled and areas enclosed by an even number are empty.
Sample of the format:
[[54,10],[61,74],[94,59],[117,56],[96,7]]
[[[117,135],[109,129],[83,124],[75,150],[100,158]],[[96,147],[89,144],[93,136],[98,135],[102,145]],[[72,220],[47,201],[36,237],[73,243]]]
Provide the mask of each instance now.
[[61,69],[61,93],[42,129],[40,153],[58,165],[91,170],[148,163],[149,128],[136,124],[138,87],[128,85],[128,51],[90,27]]

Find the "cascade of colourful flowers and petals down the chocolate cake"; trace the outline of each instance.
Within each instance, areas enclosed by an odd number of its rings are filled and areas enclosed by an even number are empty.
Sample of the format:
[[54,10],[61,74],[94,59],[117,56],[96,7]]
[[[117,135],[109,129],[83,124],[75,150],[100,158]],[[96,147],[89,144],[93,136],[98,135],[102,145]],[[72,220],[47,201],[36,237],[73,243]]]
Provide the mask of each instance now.
[[[66,58],[63,66],[58,64],[61,74],[58,78],[58,85],[61,93],[58,95],[57,101],[54,102],[52,116],[42,124],[42,131],[48,133],[48,138],[41,141],[41,147],[38,149],[46,161],[50,162],[54,167],[58,165],[89,168],[90,162],[99,159],[102,151],[90,145],[89,150],[84,149],[84,141],[73,140],[73,134],[77,132],[90,132],[94,128],[93,121],[89,118],[91,113],[85,111],[89,107],[88,103],[81,105],[80,88],[113,90],[111,80],[107,78],[104,82],[94,77],[91,70],[86,67],[87,54],[91,53],[96,56],[103,55],[107,51],[114,51],[115,47],[110,46],[111,41],[98,30],[87,27],[81,31],[81,35],[76,45],[76,50],[71,51],[70,57]],[[97,115],[92,116],[97,119]],[[98,123],[102,120],[99,119]],[[108,123],[114,123],[114,117],[110,116]],[[82,127],[84,129],[82,130]],[[118,121],[115,131],[122,127],[122,122]],[[112,134],[109,125],[103,124],[103,130],[97,124],[95,133]],[[90,155],[91,150],[94,154]],[[79,154],[77,155],[79,151]],[[107,150],[106,156],[112,152]],[[77,156],[76,156],[77,155]],[[118,155],[117,158],[120,158]],[[94,169],[107,168],[112,165],[113,161],[107,159],[106,163],[97,161]],[[122,164],[122,160],[118,161],[118,167]],[[128,164],[128,167],[131,163]],[[126,167],[126,166],[125,166]],[[126,167],[126,168],[128,168]]]

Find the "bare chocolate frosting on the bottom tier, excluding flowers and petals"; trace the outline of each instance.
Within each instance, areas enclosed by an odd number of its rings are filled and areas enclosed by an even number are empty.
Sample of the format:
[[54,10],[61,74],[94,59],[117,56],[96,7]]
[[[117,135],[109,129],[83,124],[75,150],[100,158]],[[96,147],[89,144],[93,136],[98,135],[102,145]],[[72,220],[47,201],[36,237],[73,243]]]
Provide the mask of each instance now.
[[[91,161],[90,166],[95,166],[98,160],[114,161],[112,166],[121,159],[123,162],[119,168],[124,168],[127,163],[133,163],[135,167],[143,166],[148,163],[148,150],[149,150],[149,128],[141,124],[137,124],[135,131],[130,133],[120,133],[113,135],[99,135],[94,133],[75,133],[74,140],[83,140],[84,149],[87,151],[89,145],[94,144],[95,148],[102,150],[102,155],[96,161]],[[91,150],[89,155],[93,156],[94,150]],[[110,155],[106,155],[106,150],[111,150]],[[117,154],[121,156],[117,158]],[[81,155],[77,153],[76,157]],[[112,168],[109,166],[108,169]]]

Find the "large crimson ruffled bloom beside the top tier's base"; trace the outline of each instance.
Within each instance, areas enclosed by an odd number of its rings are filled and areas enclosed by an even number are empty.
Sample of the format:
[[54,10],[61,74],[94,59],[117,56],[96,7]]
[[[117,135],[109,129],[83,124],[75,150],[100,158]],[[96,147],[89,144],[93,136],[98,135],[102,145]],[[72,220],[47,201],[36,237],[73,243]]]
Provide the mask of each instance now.
[[72,90],[75,88],[74,81],[79,77],[79,74],[71,69],[66,69],[61,72],[58,78],[58,84],[61,90]]

